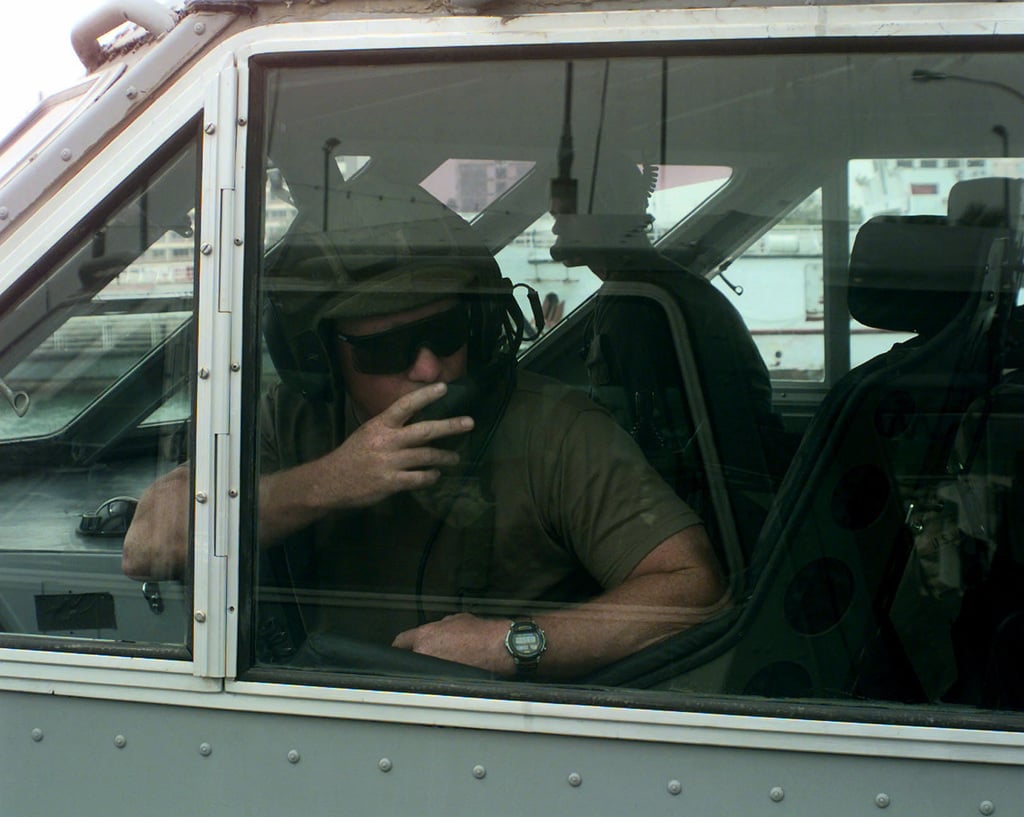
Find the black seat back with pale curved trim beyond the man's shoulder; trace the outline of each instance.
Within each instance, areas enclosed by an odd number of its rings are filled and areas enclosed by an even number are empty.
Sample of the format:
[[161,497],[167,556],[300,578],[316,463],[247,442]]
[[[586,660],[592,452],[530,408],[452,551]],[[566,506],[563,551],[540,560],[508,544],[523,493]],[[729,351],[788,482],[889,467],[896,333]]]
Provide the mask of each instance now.
[[620,275],[598,294],[588,365],[592,396],[700,513],[738,574],[787,459],[768,370],[739,313],[682,270]]

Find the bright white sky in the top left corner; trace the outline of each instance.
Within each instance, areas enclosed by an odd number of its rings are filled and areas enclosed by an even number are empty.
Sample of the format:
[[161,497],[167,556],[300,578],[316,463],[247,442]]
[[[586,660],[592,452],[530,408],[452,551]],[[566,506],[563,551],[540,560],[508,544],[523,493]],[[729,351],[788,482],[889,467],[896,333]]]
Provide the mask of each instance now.
[[39,101],[85,76],[71,30],[109,0],[2,0],[0,133],[6,134]]

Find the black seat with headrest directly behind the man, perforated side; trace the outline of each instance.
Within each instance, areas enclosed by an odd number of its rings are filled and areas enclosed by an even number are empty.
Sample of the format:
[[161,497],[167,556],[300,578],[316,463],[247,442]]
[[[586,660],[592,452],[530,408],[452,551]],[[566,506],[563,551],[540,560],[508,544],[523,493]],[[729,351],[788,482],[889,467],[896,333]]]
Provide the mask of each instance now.
[[[822,402],[751,554],[745,603],[728,632],[713,622],[705,637],[697,628],[634,656],[631,683],[669,682],[725,649],[724,691],[922,701],[953,683],[955,599],[918,604],[921,589],[904,579],[913,575],[911,526],[934,522],[929,491],[948,481],[946,460],[988,388],[999,315],[1014,297],[1006,211],[1000,224],[990,207],[961,206],[969,193],[951,197],[952,218],[879,217],[861,228],[851,313],[913,337],[842,378]],[[928,649],[915,651],[915,641]]]

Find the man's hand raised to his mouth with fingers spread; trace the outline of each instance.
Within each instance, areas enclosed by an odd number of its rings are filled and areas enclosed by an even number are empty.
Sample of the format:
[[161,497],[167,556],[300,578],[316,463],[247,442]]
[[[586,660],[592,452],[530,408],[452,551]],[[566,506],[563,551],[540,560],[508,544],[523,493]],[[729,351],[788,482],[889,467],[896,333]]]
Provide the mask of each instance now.
[[458,454],[431,443],[471,431],[473,418],[409,422],[446,391],[444,383],[433,383],[410,392],[317,461],[318,478],[310,485],[316,504],[325,510],[375,505],[393,493],[432,485],[441,467],[458,465]]

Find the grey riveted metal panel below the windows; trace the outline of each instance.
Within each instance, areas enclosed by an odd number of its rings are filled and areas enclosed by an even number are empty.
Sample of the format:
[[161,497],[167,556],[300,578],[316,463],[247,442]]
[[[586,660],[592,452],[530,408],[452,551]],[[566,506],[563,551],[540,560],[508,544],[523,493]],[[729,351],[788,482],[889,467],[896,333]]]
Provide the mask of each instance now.
[[1019,815],[1020,770],[0,693],[0,814]]

